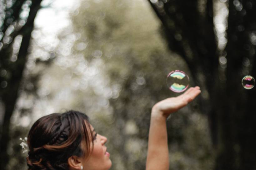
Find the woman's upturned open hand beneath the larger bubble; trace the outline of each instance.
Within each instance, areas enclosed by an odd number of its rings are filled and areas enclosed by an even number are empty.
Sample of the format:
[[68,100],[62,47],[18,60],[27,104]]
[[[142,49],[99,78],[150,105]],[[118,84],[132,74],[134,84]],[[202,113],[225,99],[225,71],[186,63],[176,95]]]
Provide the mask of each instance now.
[[192,102],[200,94],[200,87],[190,87],[185,93],[178,97],[170,97],[156,103],[152,108],[151,116],[164,116],[167,118],[171,113]]

